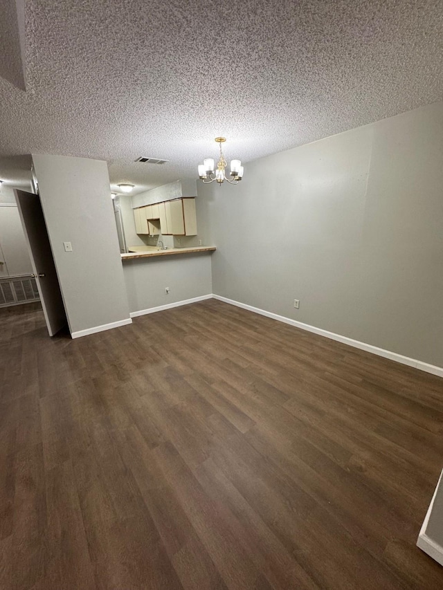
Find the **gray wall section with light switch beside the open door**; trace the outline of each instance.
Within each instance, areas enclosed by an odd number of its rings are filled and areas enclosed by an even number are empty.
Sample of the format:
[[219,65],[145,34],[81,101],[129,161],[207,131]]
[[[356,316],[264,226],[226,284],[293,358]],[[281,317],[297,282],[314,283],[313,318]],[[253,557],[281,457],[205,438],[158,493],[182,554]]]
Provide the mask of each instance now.
[[107,163],[34,154],[33,162],[71,332],[126,320]]

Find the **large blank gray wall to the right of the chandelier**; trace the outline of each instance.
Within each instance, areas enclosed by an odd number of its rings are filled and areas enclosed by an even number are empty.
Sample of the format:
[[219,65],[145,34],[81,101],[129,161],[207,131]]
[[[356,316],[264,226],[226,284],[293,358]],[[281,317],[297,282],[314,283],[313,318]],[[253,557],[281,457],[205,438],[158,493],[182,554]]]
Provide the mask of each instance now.
[[442,163],[440,102],[199,183],[213,292],[442,367]]

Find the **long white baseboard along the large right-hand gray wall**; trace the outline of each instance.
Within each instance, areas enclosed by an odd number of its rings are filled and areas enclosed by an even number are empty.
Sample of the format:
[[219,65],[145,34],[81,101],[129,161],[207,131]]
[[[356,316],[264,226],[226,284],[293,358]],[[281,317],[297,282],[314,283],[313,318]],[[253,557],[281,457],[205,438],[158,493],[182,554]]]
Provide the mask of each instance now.
[[259,313],[260,315],[265,315],[266,317],[271,317],[272,320],[277,320],[278,322],[283,322],[284,324],[289,324],[290,326],[296,326],[296,328],[300,328],[308,332],[313,332],[314,334],[318,334],[320,336],[325,336],[325,338],[330,338],[331,340],[336,340],[337,342],[343,342],[343,344],[348,344],[350,347],[377,354],[378,356],[383,356],[384,358],[389,358],[390,360],[400,362],[402,365],[409,365],[410,367],[415,367],[415,369],[419,369],[420,371],[426,371],[426,373],[431,373],[433,375],[443,377],[443,367],[428,365],[427,362],[423,362],[422,360],[417,360],[415,358],[403,356],[396,352],[381,349],[379,347],[374,347],[372,344],[359,342],[359,340],[353,340],[352,338],[347,338],[347,336],[342,336],[334,332],[328,332],[327,330],[316,328],[316,326],[303,324],[302,322],[297,322],[297,320],[291,320],[290,317],[284,317],[284,315],[271,313],[271,311],[265,311],[264,309],[253,307],[252,305],[246,305],[244,303],[234,301],[233,299],[228,299],[227,297],[221,297],[221,295],[213,294],[213,297],[214,299],[218,299],[219,301],[223,301],[230,305],[235,305],[237,307],[247,309],[248,311],[253,311],[254,313]]

